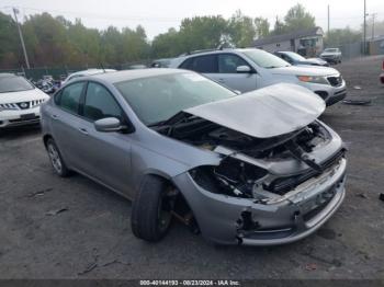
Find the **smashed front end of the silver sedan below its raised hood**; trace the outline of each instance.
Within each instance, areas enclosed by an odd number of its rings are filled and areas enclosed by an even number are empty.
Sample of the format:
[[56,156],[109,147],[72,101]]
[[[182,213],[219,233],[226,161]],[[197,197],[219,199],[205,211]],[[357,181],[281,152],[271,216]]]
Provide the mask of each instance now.
[[172,179],[212,241],[290,243],[317,230],[345,198],[346,150],[319,120],[263,139],[212,122],[182,125],[168,136],[222,158]]

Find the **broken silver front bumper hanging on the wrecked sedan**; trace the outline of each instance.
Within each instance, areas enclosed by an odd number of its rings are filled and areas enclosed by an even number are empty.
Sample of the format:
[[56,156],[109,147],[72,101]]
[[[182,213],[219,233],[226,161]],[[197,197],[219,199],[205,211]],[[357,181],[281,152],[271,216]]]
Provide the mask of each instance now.
[[173,181],[182,187],[205,238],[222,244],[278,245],[309,236],[335,214],[345,198],[346,167],[342,159],[327,173],[271,204],[213,194],[189,173]]

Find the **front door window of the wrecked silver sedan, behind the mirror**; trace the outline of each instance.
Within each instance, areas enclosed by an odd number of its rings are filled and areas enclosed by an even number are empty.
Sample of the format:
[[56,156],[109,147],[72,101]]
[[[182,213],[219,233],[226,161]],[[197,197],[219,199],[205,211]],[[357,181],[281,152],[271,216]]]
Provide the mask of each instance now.
[[101,84],[88,84],[83,116],[98,120],[105,117],[116,117],[123,120],[123,111],[113,95]]

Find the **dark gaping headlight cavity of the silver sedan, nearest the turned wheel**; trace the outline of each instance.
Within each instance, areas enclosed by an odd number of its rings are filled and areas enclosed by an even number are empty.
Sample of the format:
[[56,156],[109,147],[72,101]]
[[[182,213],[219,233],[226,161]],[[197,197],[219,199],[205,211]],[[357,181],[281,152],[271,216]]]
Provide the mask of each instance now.
[[199,167],[191,170],[190,174],[208,192],[253,198],[255,185],[268,175],[268,171],[237,159],[226,158],[217,167]]

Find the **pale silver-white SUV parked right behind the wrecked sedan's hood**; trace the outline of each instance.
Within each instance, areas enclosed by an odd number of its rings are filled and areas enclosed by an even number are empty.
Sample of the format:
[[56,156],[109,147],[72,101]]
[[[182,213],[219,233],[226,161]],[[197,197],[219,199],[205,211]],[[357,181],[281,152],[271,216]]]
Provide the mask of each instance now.
[[303,85],[327,105],[347,95],[346,82],[340,73],[328,67],[292,66],[261,49],[223,49],[199,51],[174,58],[170,68],[201,72],[233,90],[248,92],[280,82]]

